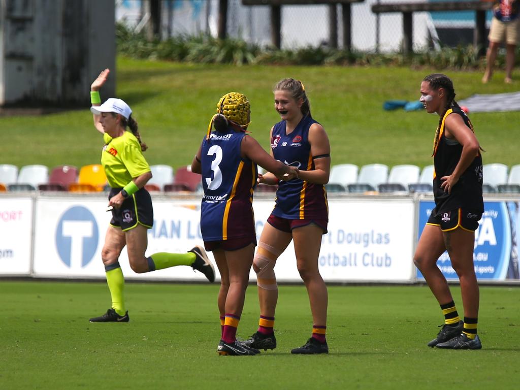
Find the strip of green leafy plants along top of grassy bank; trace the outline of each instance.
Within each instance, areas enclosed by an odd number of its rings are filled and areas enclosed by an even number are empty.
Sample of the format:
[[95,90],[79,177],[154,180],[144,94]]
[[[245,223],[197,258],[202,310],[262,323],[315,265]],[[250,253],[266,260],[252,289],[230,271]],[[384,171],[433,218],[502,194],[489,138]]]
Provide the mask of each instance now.
[[[342,65],[342,66],[411,66],[437,69],[483,69],[485,58],[477,56],[473,45],[425,48],[418,53],[404,55],[352,53],[325,46],[295,49],[261,47],[236,38],[219,40],[210,35],[177,35],[167,40],[148,41],[144,33],[134,33],[122,23],[116,25],[118,52],[131,58],[160,59],[193,63],[274,64],[274,65]],[[499,53],[498,66],[505,58]]]

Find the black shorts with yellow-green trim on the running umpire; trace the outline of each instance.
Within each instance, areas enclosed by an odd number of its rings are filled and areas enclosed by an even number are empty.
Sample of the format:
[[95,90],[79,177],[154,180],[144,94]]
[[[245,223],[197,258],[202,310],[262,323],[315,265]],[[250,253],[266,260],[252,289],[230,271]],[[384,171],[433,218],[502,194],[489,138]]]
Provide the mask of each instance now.
[[[122,188],[112,188],[108,199],[118,194]],[[153,226],[153,207],[150,193],[141,188],[124,200],[119,209],[112,209],[110,225],[126,231],[135,228],[138,224],[151,229]]]

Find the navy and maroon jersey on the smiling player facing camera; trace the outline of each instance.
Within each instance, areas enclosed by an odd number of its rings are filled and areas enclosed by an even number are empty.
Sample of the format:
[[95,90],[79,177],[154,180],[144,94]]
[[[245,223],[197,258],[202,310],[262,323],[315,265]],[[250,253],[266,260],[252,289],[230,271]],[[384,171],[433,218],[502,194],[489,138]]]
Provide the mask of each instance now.
[[[285,133],[287,123],[278,122],[272,129],[271,149],[276,160],[296,166],[300,171],[315,169],[310,153],[309,128],[316,122],[310,115],[298,123],[291,134]],[[302,179],[280,181],[272,214],[287,219],[329,219],[327,192],[321,184]]]

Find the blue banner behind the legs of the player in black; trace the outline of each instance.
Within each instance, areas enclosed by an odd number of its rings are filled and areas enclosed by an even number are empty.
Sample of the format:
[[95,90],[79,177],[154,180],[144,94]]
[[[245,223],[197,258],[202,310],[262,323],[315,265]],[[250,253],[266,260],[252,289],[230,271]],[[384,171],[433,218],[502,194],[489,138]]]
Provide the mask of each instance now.
[[[518,279],[518,224],[520,202],[484,202],[484,214],[475,231],[473,261],[479,280]],[[419,203],[419,235],[435,207],[433,201]],[[446,279],[458,280],[447,252],[437,261]],[[417,278],[424,280],[417,270]]]

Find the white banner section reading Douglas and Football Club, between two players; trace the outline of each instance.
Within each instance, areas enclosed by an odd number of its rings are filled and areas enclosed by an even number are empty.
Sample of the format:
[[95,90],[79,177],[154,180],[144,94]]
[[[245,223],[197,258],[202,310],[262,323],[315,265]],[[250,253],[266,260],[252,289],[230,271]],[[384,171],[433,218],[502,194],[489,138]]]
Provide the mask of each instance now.
[[410,282],[413,221],[411,199],[329,202],[319,257],[323,279]]

